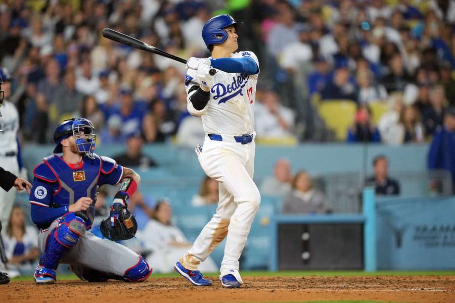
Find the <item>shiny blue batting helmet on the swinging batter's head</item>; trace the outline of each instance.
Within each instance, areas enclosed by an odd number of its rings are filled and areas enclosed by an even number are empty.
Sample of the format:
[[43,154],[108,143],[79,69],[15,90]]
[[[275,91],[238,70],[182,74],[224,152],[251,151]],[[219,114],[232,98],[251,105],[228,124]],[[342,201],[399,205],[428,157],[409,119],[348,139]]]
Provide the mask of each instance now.
[[205,45],[208,47],[212,44],[221,44],[228,38],[228,32],[223,30],[228,26],[233,25],[236,31],[242,29],[243,22],[236,22],[230,15],[218,15],[207,21],[202,28],[202,38]]

